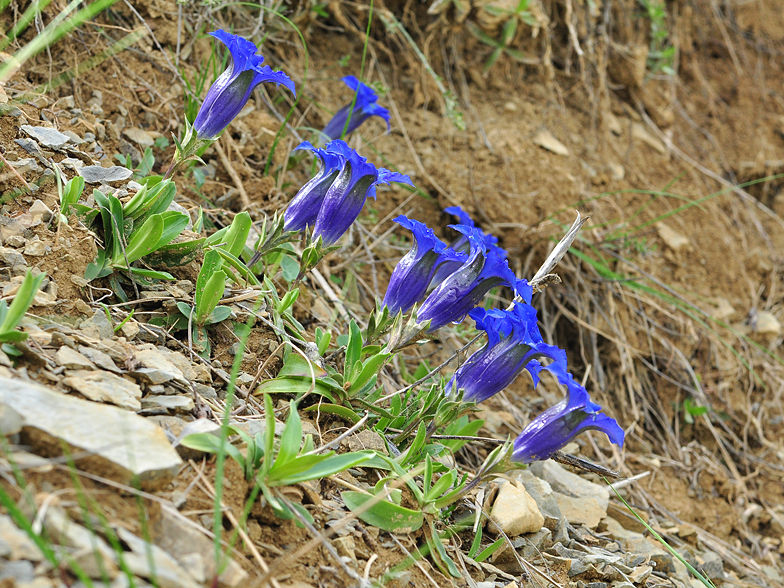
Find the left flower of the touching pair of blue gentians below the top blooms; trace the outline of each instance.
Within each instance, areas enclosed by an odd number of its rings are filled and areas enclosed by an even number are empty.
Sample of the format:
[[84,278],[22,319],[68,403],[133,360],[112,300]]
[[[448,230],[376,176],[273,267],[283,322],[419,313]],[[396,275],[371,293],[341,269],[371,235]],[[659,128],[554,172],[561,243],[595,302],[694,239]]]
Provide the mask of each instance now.
[[289,203],[283,215],[285,219],[283,228],[286,231],[301,231],[308,225],[312,227],[316,224],[321,205],[324,203],[324,196],[345,163],[345,158],[340,152],[319,149],[307,141],[300,143],[294,151],[298,149],[307,149],[315,153],[319,158],[320,168]]

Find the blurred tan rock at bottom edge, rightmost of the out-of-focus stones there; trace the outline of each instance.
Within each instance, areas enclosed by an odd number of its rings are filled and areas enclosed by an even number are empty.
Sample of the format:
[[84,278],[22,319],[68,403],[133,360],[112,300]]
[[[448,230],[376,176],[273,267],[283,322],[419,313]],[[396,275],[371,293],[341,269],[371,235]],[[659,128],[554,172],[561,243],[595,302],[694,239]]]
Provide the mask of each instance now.
[[[211,540],[196,530],[184,517],[161,511],[161,516],[152,528],[152,540],[177,562],[186,566],[192,555],[197,553],[204,563],[204,575],[213,578],[218,575],[220,586],[236,588],[244,586],[248,573],[232,559],[215,561],[215,547]],[[218,568],[218,564],[221,566]],[[218,574],[218,570],[222,570]]]

